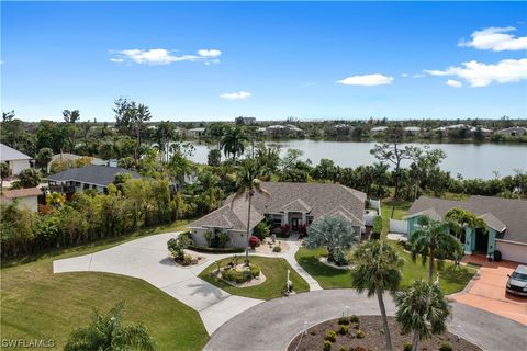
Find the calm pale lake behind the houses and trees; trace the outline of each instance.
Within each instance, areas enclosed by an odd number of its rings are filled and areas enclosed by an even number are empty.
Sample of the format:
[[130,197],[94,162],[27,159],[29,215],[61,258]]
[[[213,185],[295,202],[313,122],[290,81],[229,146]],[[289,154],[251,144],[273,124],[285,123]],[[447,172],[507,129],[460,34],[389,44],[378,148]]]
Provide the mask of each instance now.
[[[313,165],[323,158],[332,159],[340,167],[371,165],[378,160],[370,154],[375,143],[328,141],[328,140],[284,140],[269,141],[281,147],[283,156],[290,148],[303,151],[302,158]],[[195,152],[192,160],[206,163],[206,155],[215,145],[193,144]],[[404,144],[403,144],[404,145]],[[424,144],[411,144],[424,146]],[[515,169],[527,170],[527,146],[524,144],[429,144],[447,154],[440,165],[452,177],[460,173],[463,178],[492,179],[497,171],[500,177],[514,174]],[[222,152],[223,157],[223,152]],[[223,158],[222,158],[223,159]]]

